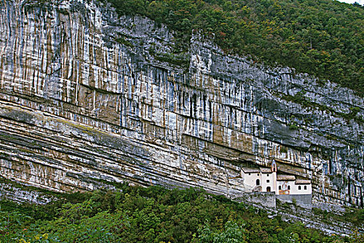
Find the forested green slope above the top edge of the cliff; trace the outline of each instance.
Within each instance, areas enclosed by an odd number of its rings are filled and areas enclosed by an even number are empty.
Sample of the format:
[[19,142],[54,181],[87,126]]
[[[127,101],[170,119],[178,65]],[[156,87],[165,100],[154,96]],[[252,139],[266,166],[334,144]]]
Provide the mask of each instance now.
[[[105,0],[104,0],[105,1]],[[177,31],[215,35],[226,53],[295,67],[364,94],[364,9],[331,0],[106,0],[120,14],[145,15]],[[320,79],[322,82],[322,80]]]

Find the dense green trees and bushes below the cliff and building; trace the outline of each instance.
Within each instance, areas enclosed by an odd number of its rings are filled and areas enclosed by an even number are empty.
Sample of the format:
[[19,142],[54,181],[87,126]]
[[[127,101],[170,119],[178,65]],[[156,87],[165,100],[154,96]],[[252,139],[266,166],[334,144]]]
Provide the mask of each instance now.
[[202,190],[129,187],[69,195],[46,206],[0,201],[3,242],[363,242],[268,219]]

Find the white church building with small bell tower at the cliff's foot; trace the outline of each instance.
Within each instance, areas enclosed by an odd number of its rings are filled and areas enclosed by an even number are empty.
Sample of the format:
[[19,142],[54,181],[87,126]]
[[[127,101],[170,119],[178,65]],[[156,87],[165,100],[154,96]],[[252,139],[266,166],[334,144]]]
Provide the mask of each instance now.
[[273,160],[270,168],[241,168],[244,184],[252,187],[252,192],[275,192],[275,194],[312,194],[311,181],[296,179],[295,176],[278,174]]

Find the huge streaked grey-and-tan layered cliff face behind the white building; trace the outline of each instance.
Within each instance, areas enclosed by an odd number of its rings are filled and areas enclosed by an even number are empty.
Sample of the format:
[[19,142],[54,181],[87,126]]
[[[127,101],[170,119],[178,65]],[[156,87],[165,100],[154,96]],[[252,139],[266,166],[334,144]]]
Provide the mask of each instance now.
[[363,207],[364,103],[286,67],[98,1],[0,2],[0,167],[67,192],[110,182],[239,196],[240,167],[309,178],[313,201]]

